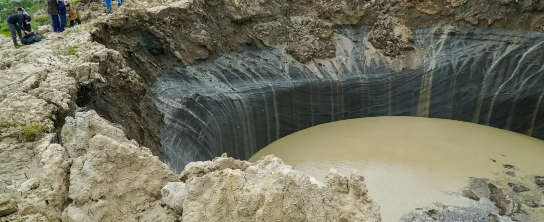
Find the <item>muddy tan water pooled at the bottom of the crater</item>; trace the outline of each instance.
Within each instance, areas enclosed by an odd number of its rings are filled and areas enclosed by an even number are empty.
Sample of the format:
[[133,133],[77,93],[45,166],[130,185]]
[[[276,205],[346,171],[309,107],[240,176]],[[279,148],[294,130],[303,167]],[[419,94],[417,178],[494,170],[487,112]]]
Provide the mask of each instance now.
[[[329,169],[357,170],[381,206],[383,221],[399,221],[415,208],[470,206],[459,195],[470,177],[516,180],[544,175],[544,141],[454,120],[373,117],[313,126],[271,143],[250,162],[276,155],[297,170],[325,180]],[[521,183],[534,181],[521,181]]]

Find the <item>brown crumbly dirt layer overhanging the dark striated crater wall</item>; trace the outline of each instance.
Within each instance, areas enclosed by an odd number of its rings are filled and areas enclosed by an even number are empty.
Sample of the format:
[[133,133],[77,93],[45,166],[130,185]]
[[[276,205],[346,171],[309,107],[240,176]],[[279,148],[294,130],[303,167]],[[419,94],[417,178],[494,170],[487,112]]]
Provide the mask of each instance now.
[[[98,24],[96,41],[122,52],[131,67],[192,64],[246,45],[286,45],[294,59],[331,58],[332,27],[369,24],[370,42],[387,56],[412,50],[410,29],[479,26],[542,30],[541,1],[159,1],[134,2]],[[131,21],[131,22],[126,22]],[[156,59],[153,60],[153,59]]]

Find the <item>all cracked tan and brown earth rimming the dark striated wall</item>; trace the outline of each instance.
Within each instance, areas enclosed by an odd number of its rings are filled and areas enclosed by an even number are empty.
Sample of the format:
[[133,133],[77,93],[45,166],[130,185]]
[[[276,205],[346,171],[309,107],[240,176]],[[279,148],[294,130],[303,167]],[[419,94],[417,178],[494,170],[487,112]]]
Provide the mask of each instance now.
[[[544,30],[540,1],[480,3],[129,1],[112,15],[91,4],[82,26],[62,34],[39,27],[45,39],[20,49],[0,36],[0,221],[380,221],[356,173],[332,171],[320,183],[269,156],[196,162],[175,175],[156,157],[152,71],[248,44],[286,45],[301,62],[330,58],[336,25],[373,26],[370,42],[392,57],[412,50],[410,29],[425,26]],[[141,48],[143,35],[156,45]],[[76,113],[77,103],[104,118]],[[21,141],[17,126],[34,123],[40,137]]]

